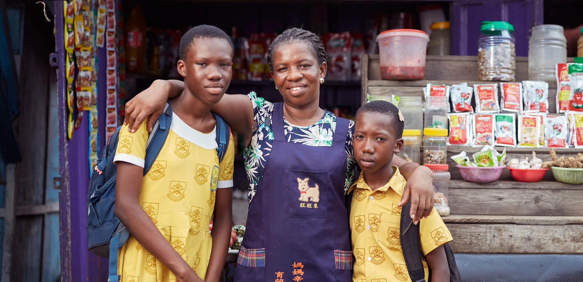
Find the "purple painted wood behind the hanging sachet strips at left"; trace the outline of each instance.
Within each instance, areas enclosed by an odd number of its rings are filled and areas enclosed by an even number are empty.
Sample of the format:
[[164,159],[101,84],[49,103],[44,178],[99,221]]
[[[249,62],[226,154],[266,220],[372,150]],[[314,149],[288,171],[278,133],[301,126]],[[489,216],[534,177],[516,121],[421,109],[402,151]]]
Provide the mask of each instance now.
[[[61,209],[61,275],[63,282],[106,281],[107,260],[87,251],[88,112],[85,112],[83,122],[79,129],[73,133],[71,140],[67,140],[68,112],[65,94],[65,44],[62,7],[63,1],[55,1],[55,49],[58,52],[59,63],[57,87],[59,97],[59,172],[61,173],[61,197],[59,198]],[[103,62],[103,66],[100,65],[99,77],[106,77],[106,55],[103,50],[100,51],[99,61]],[[100,88],[99,92],[106,93],[105,88]],[[105,104],[104,101],[100,103],[101,105]],[[105,116],[105,113],[100,116]],[[105,124],[105,122],[101,123],[100,121],[100,124]],[[104,136],[104,134],[101,134],[101,136]]]

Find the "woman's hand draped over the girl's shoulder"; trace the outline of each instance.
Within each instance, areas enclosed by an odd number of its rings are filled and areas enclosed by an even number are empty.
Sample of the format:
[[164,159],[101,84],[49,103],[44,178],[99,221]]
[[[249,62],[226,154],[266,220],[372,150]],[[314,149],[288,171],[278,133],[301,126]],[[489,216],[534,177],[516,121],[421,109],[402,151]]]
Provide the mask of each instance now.
[[184,90],[184,83],[178,80],[154,80],[152,85],[125,104],[124,124],[135,132],[149,116],[147,131],[152,131],[158,117],[164,112],[168,97],[175,97]]

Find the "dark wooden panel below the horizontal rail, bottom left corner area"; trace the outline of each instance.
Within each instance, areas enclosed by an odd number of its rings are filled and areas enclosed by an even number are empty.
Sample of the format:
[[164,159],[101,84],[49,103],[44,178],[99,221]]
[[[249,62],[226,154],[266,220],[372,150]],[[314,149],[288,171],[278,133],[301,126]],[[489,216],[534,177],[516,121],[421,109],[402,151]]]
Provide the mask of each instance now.
[[[40,281],[43,252],[43,215],[22,216],[16,222],[13,240],[12,281]],[[2,280],[4,281],[4,280]]]

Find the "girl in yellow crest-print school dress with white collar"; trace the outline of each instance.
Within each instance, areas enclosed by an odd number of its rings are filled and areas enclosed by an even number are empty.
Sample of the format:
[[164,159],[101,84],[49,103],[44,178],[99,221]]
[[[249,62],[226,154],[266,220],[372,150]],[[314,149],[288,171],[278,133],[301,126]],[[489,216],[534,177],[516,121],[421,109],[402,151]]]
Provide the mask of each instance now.
[[219,163],[210,107],[229,87],[232,58],[233,44],[219,28],[184,34],[177,69],[186,87],[170,101],[170,131],[145,176],[146,123],[120,130],[115,215],[131,234],[118,252],[122,282],[219,281],[233,217],[234,144],[231,135]]

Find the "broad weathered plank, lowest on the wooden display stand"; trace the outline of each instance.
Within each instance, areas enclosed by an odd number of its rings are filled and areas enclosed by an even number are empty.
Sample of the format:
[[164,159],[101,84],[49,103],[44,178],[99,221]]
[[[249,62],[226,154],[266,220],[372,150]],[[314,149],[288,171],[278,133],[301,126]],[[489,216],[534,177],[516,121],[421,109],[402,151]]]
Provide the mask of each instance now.
[[583,254],[583,225],[447,224],[458,253]]

